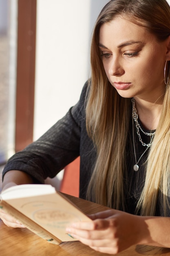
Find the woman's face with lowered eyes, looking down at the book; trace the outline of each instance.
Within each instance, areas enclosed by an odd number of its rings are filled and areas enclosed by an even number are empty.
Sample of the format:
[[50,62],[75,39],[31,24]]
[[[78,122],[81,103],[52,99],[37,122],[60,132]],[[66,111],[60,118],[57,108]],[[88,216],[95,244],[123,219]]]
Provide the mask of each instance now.
[[99,48],[108,80],[125,98],[155,102],[165,89],[164,66],[169,38],[159,42],[144,27],[124,18],[104,23]]

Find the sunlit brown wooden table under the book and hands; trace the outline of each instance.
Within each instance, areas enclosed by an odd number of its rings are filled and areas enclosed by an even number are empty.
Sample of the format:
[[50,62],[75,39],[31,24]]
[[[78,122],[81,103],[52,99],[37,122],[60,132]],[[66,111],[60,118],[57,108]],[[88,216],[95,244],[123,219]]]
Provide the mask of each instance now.
[[[67,195],[84,213],[95,213],[104,211],[107,207],[94,204],[86,200]],[[82,243],[66,242],[59,245],[52,245],[28,229],[13,229],[4,225],[0,220],[0,255],[1,256],[108,256],[94,251]],[[139,246],[130,247],[117,254],[118,256],[142,256],[154,255],[154,252],[142,253]],[[164,249],[162,256],[170,256],[170,249]]]

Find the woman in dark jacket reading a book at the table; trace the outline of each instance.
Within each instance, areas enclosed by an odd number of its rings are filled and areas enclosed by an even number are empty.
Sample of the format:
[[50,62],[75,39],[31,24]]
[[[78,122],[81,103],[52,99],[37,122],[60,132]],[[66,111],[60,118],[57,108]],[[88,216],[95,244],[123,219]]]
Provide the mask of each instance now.
[[[170,247],[169,61],[166,0],[108,2],[94,28],[92,77],[79,102],[9,159],[3,189],[43,182],[80,155],[80,197],[113,210],[67,232],[109,254],[137,244]],[[0,216],[22,227],[2,210]]]

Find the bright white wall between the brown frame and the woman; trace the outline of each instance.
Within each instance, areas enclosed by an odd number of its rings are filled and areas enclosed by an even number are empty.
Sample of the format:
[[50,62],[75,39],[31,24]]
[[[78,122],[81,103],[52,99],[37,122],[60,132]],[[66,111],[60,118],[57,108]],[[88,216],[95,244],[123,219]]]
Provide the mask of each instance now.
[[93,24],[108,0],[37,0],[34,140],[77,103]]

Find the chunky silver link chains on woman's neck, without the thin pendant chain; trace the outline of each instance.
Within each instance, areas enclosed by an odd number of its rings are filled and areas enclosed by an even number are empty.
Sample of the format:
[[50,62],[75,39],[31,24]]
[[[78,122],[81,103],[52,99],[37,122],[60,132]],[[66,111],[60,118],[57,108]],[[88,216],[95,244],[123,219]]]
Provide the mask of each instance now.
[[135,126],[136,126],[136,130],[137,130],[137,135],[138,135],[138,138],[139,138],[139,141],[141,142],[141,144],[143,146],[147,146],[147,147],[150,147],[152,145],[152,140],[150,141],[150,143],[146,144],[142,141],[141,139],[141,135],[140,135],[140,132],[139,132],[139,129],[147,136],[154,136],[155,135],[155,131],[154,132],[145,132],[139,122],[138,122],[138,115],[137,115],[137,110],[136,110],[136,107],[135,107],[135,99],[132,98],[132,117],[133,117],[133,120],[135,121]]

